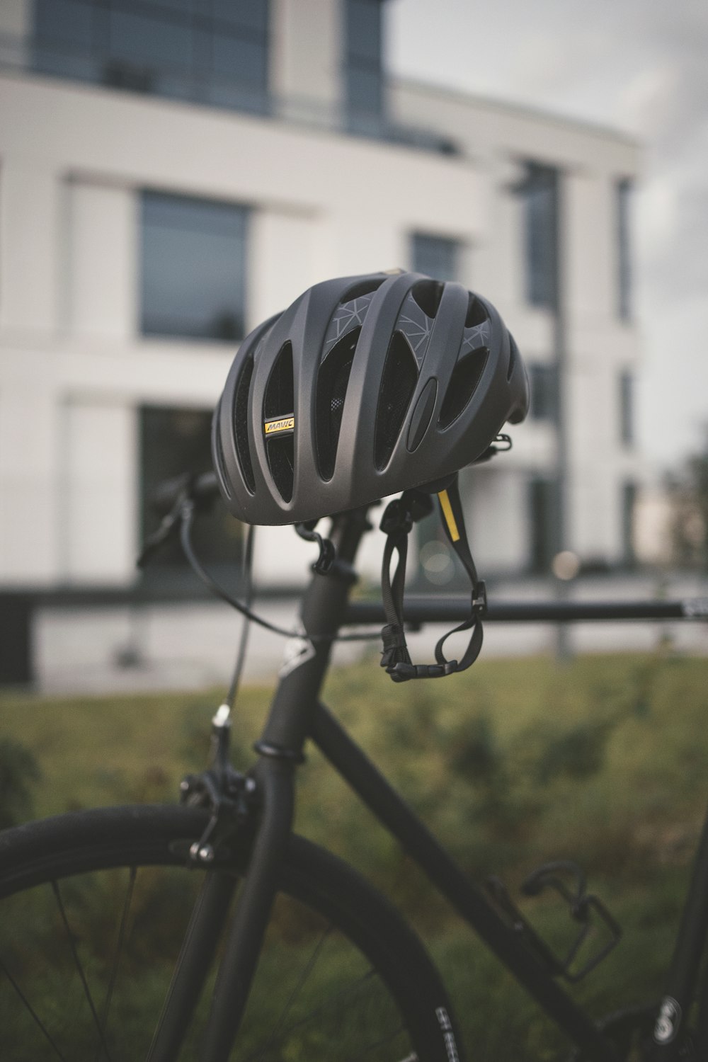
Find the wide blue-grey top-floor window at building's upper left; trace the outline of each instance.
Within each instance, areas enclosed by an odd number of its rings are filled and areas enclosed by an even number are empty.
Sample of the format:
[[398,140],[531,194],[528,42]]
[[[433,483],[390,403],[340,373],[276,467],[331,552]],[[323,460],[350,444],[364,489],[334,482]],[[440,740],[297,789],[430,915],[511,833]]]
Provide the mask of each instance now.
[[36,0],[41,73],[263,113],[267,0]]

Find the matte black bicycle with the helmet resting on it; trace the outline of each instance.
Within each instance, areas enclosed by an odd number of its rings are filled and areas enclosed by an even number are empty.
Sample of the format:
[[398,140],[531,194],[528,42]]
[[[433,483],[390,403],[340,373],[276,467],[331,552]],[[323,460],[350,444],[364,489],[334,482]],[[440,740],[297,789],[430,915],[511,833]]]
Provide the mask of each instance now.
[[[176,490],[173,484],[160,533],[180,525],[189,549],[194,511],[214,493],[213,476]],[[500,883],[485,890],[462,873],[321,703],[330,650],[342,627],[383,618],[381,605],[349,600],[358,547],[369,527],[367,509],[359,509],[333,517],[328,539],[305,529],[318,541],[321,555],[252,768],[240,772],[229,763],[231,724],[222,706],[212,723],[210,766],[184,780],[179,805],[81,811],[0,835],[3,912],[8,903],[15,905],[3,920],[0,976],[17,1005],[0,1038],[8,1037],[15,1016],[24,1030],[6,1047],[13,1051],[6,1057],[168,1062],[182,1050],[180,1057],[204,1062],[330,1059],[343,1043],[347,1058],[457,1062],[466,1057],[445,986],[396,908],[341,859],[293,834],[294,777],[308,740],[565,1033],[574,1059],[708,1057],[705,993],[697,1025],[689,1031],[683,1021],[698,992],[708,929],[708,822],[662,999],[598,1021],[559,981],[577,979],[601,961],[619,938],[619,927],[587,892],[576,869],[549,864],[528,883],[529,892],[555,889],[577,922],[580,939],[564,960],[536,935]],[[332,544],[329,550],[326,542]],[[405,614],[408,621],[421,623],[464,619],[467,611],[468,603],[454,599],[422,599],[409,601]],[[708,602],[496,609],[485,602],[483,615],[491,620],[705,619]],[[183,893],[183,879],[196,888],[194,901]],[[107,917],[109,904],[117,910],[115,921]],[[153,931],[161,925],[155,920],[158,908],[167,908],[170,926],[178,917],[187,922],[184,937],[176,936],[174,966],[169,953],[175,935],[165,940],[161,929]],[[88,924],[80,926],[82,912]],[[573,961],[593,919],[609,940],[579,971]],[[33,948],[48,938],[52,949],[37,966]],[[294,961],[292,941],[303,945]],[[142,998],[128,992],[116,1012],[119,976],[129,979],[135,964],[145,962],[155,969],[153,996],[141,981]],[[28,997],[31,980],[39,993],[36,1005]],[[68,990],[68,1005],[54,998],[58,988]],[[260,1001],[254,999],[257,989]],[[140,1042],[141,1007],[154,1008],[150,1043]],[[84,1031],[77,1028],[80,1016],[87,1018]],[[202,1020],[206,1029],[194,1031]],[[22,1039],[30,1032],[32,1045]],[[352,1035],[358,1037],[356,1051],[349,1045]]]

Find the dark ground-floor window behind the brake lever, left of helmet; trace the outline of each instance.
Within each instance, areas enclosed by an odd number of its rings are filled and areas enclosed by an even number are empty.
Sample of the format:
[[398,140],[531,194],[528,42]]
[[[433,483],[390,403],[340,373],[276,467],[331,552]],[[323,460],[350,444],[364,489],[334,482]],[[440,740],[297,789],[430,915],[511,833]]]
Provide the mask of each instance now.
[[[211,468],[211,411],[143,406],[139,424],[140,531],[144,542],[160,523],[153,508],[157,486],[166,479]],[[240,559],[241,525],[223,506],[214,506],[194,521],[193,542],[202,560],[232,568]],[[155,567],[162,571],[188,567],[178,542],[169,539],[154,554],[145,568],[149,580]]]

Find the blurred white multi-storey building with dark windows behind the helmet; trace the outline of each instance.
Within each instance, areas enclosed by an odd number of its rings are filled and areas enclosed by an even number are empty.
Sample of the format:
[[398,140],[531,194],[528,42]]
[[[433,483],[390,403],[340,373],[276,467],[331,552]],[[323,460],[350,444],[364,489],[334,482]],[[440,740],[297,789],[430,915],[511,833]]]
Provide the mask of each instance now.
[[[3,0],[5,590],[134,587],[146,493],[204,455],[239,339],[317,280],[395,266],[488,296],[531,369],[513,453],[465,476],[479,566],[631,558],[637,145],[391,81],[381,7]],[[260,581],[310,552],[264,532]],[[438,547],[424,561],[448,577]]]

